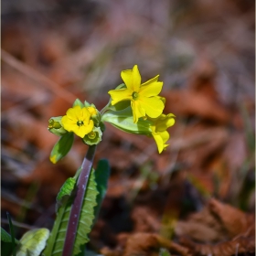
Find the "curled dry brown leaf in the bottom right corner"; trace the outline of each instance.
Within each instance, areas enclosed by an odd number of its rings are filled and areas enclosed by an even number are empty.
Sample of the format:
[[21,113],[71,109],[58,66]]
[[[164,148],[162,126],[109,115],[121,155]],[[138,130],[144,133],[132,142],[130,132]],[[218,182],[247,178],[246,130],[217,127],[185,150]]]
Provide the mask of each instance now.
[[[180,242],[187,246],[193,255],[231,256],[255,251],[254,215],[246,214],[214,198],[209,200],[206,208],[194,214],[187,222],[179,221],[176,234],[183,236]],[[219,243],[198,244],[191,238]]]

